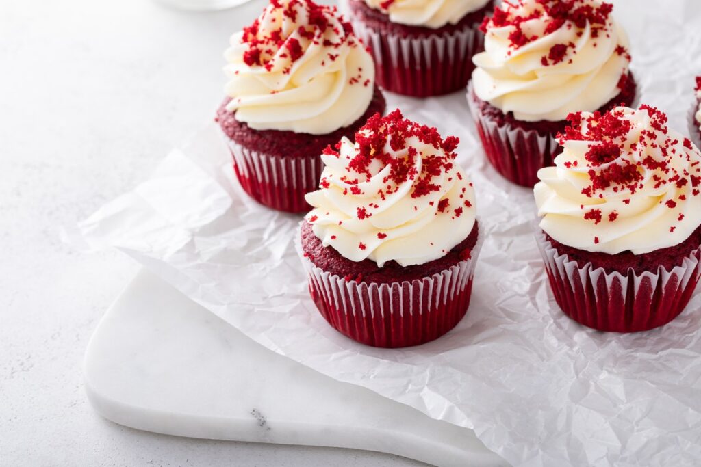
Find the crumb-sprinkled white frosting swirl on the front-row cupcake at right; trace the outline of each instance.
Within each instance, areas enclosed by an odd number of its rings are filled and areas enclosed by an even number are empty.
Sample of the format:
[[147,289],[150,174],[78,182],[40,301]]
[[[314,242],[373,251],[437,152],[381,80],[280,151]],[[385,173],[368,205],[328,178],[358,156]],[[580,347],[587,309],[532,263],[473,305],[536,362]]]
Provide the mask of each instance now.
[[582,116],[562,139],[555,167],[538,172],[540,228],[562,244],[609,254],[686,240],[701,224],[696,146],[646,106]]

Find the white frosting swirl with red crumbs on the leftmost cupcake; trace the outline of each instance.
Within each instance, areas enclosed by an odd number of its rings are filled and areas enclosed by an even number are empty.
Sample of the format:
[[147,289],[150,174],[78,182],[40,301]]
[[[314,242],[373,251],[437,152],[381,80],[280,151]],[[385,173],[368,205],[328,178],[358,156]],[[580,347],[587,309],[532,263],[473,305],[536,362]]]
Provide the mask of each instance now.
[[254,130],[328,134],[372,100],[372,57],[336,8],[310,0],[271,2],[224,57],[226,109]]

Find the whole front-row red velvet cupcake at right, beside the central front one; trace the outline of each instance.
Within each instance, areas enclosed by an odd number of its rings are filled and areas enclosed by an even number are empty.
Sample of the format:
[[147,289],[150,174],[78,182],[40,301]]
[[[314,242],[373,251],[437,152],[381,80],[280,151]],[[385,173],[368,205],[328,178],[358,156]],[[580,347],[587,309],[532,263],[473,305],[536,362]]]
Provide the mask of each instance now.
[[701,273],[701,153],[649,106],[569,121],[534,188],[554,298],[590,328],[662,326]]

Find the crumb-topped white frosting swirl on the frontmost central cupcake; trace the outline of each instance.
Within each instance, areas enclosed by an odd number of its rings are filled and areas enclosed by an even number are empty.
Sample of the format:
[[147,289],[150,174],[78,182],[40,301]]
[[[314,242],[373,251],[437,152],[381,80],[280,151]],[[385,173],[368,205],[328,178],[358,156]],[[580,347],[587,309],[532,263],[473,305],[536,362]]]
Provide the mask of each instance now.
[[394,111],[379,114],[322,160],[320,190],[306,215],[324,246],[382,267],[442,258],[475,225],[475,191],[456,165],[458,139],[442,139]]

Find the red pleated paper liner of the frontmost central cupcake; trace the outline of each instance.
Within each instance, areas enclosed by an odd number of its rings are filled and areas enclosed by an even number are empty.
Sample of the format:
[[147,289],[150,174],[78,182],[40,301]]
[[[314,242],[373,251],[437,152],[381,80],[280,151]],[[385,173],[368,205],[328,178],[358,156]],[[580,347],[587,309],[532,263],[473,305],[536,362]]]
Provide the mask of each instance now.
[[325,272],[304,257],[299,232],[297,252],[307,272],[311,297],[333,328],[373,347],[409,347],[444,335],[468,311],[483,242],[481,226],[479,229],[471,258],[411,282],[367,284]]

